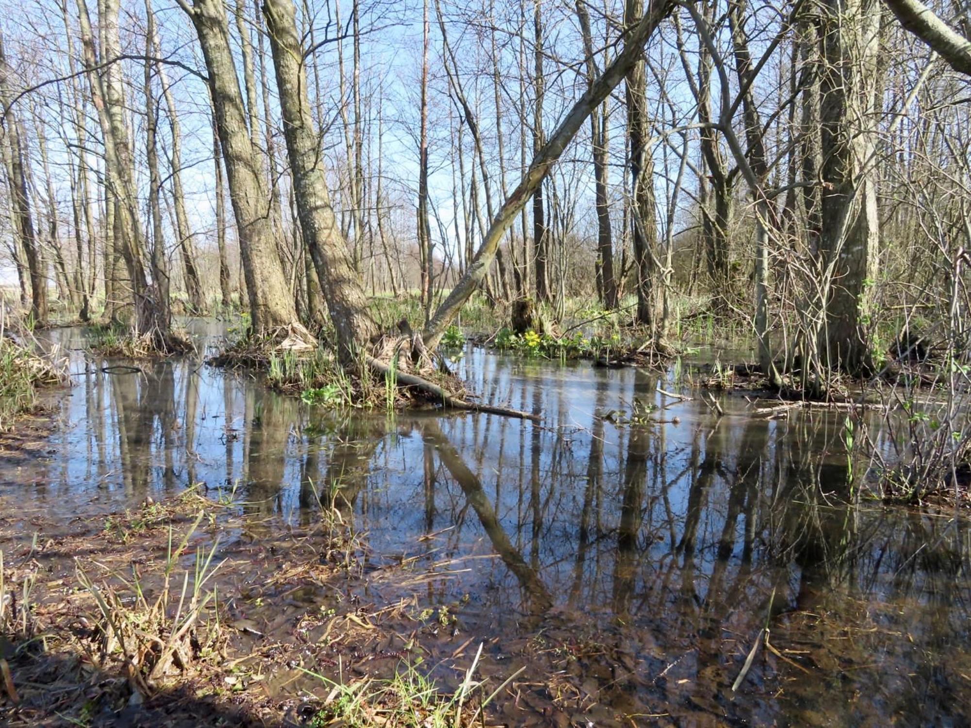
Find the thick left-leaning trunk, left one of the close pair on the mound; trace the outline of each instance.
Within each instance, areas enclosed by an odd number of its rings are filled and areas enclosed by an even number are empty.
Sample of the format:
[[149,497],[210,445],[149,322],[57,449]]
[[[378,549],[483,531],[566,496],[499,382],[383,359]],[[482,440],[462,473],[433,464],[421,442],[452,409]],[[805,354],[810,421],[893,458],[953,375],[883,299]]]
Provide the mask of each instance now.
[[284,328],[297,327],[301,335],[309,336],[297,317],[274,245],[267,215],[269,196],[247,129],[225,8],[221,0],[194,0],[192,7],[181,1],[180,5],[192,19],[206,61],[250,296],[252,331],[257,336],[273,336]]

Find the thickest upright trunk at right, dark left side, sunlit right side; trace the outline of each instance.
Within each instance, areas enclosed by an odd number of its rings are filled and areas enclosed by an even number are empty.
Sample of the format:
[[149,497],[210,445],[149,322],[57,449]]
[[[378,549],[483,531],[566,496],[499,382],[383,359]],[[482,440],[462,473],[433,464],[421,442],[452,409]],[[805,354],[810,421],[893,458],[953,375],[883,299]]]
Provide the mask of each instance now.
[[878,274],[876,128],[880,12],[876,0],[824,0],[820,79],[820,254],[829,279],[823,363],[873,366],[869,318]]

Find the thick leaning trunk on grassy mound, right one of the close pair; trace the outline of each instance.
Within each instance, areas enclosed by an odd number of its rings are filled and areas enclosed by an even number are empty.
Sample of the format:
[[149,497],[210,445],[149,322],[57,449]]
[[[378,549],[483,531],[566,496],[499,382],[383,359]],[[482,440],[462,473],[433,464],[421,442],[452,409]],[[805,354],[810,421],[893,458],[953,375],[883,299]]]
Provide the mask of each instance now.
[[355,366],[359,355],[366,353],[366,347],[378,334],[378,324],[368,313],[364,288],[330,204],[321,139],[307,99],[307,79],[301,62],[304,52],[292,0],[264,0],[263,14],[270,31],[286,150],[304,241],[314,259],[337,331],[339,356],[345,365]]

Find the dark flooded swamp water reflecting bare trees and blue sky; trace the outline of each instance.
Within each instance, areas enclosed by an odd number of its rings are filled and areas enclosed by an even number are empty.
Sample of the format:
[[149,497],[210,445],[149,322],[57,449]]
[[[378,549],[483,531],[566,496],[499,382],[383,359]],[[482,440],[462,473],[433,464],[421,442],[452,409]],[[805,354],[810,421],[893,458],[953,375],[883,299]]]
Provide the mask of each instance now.
[[[50,336],[84,347],[80,329]],[[722,395],[716,419],[656,392],[696,394],[670,371],[482,350],[459,365],[470,390],[542,424],[334,414],[201,356],[123,363],[73,352],[47,459],[0,467],[0,494],[69,519],[205,483],[285,526],[336,490],[374,566],[450,564],[410,591],[361,580],[361,598],[432,614],[429,664],[470,638],[525,664],[517,706],[537,723],[556,724],[556,700],[598,726],[971,721],[968,522],[844,505],[842,414],[757,418]],[[671,406],[615,423],[635,402]],[[733,691],[765,627],[771,649]]]

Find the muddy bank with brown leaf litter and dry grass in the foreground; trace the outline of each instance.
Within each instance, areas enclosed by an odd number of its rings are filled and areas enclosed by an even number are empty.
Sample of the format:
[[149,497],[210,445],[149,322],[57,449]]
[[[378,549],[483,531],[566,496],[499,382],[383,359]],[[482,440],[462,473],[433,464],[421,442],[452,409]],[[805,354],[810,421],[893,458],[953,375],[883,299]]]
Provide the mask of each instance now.
[[[0,723],[466,724],[503,682],[466,677],[463,640],[439,694],[420,643],[444,625],[354,595],[360,554],[339,522],[281,530],[238,507],[189,489],[64,523],[0,499]],[[308,609],[324,592],[334,607]]]

